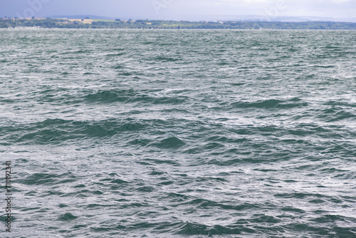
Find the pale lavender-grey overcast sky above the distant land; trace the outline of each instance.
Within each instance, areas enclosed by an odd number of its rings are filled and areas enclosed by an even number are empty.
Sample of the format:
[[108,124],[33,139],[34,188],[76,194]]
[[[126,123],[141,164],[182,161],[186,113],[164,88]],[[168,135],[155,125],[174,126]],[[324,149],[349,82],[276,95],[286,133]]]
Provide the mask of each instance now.
[[0,0],[0,17],[73,15],[177,21],[230,20],[241,16],[356,20],[356,0]]

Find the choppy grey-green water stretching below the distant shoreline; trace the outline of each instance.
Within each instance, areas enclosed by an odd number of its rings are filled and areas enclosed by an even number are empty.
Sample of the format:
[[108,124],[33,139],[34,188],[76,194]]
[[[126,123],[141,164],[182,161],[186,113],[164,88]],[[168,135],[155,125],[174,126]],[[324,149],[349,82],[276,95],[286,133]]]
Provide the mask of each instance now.
[[1,236],[356,237],[356,31],[0,43]]

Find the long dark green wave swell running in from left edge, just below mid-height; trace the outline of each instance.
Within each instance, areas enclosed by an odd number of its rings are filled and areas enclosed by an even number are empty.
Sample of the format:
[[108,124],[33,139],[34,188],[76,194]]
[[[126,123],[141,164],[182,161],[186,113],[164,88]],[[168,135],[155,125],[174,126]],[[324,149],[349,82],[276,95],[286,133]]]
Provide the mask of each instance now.
[[12,143],[63,143],[67,140],[112,138],[117,133],[144,130],[150,120],[123,121],[75,121],[62,119],[46,119],[38,123],[20,124],[0,128],[2,144]]

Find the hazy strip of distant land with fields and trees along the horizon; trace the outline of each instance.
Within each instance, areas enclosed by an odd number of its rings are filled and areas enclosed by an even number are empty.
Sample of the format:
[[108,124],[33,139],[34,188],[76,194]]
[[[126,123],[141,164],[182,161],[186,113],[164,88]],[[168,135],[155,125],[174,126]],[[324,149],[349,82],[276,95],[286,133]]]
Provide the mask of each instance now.
[[356,23],[340,21],[157,21],[92,19],[0,19],[0,28],[61,28],[61,29],[311,29],[356,30]]

